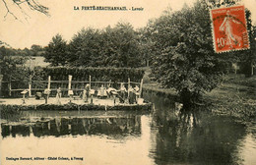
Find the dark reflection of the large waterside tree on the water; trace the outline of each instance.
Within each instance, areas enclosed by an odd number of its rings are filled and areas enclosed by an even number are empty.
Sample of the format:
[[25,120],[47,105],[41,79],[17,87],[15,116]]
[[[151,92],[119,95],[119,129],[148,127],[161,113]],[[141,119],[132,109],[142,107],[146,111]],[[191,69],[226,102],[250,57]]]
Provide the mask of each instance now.
[[196,110],[154,114],[157,164],[235,164],[236,147],[244,126],[224,116]]

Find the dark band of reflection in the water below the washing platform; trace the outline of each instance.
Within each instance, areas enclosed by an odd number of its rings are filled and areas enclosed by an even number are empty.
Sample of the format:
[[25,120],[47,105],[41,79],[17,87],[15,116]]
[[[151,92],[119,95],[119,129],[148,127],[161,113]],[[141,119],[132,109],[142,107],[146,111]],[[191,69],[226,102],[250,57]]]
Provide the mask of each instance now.
[[[28,121],[30,122],[30,121]],[[34,123],[2,124],[2,137],[22,135],[34,137],[65,135],[127,136],[141,134],[141,117],[53,118]]]

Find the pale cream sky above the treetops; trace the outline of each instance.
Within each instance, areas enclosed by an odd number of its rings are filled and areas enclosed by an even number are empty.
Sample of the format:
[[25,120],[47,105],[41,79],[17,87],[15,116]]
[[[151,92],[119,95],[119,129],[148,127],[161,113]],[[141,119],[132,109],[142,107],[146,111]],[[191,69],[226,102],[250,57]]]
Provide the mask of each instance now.
[[[21,13],[11,0],[5,0],[10,14],[0,0],[0,40],[13,48],[31,48],[32,44],[46,46],[51,38],[60,33],[70,41],[83,27],[103,28],[115,26],[118,22],[128,22],[133,27],[145,27],[150,19],[159,18],[167,8],[178,11],[186,3],[192,6],[196,0],[37,0],[49,8],[50,16],[34,12],[24,7],[27,15]],[[243,0],[241,3],[252,12],[252,21],[256,22],[256,0]],[[80,10],[74,10],[74,6]],[[120,6],[127,9],[143,8],[143,11],[85,11],[82,6]]]

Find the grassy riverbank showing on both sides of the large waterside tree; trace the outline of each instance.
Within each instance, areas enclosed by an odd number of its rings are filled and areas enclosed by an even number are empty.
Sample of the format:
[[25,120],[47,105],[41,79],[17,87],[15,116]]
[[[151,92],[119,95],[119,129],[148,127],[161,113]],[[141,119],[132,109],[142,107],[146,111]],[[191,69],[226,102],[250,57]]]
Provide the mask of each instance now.
[[[162,88],[160,83],[150,79],[151,71],[147,70],[144,90],[160,92],[177,99],[174,89]],[[256,118],[256,76],[245,78],[244,75],[224,76],[224,81],[211,92],[203,95],[204,106],[214,113],[238,117],[252,121]]]

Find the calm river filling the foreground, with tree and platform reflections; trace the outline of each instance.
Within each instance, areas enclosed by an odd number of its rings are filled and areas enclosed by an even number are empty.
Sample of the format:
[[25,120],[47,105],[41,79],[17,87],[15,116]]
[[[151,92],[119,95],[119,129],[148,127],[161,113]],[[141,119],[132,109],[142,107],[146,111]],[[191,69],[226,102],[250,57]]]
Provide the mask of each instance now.
[[2,116],[1,162],[256,164],[255,126],[203,109],[180,112],[171,98],[155,92],[144,92],[144,98],[155,103],[154,111],[24,111]]

